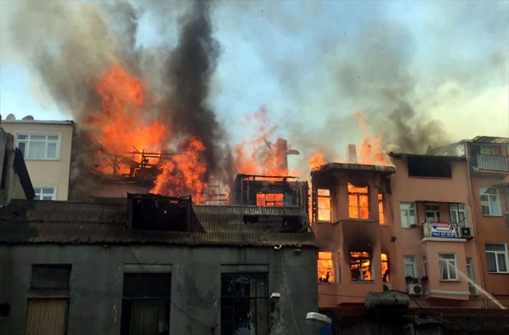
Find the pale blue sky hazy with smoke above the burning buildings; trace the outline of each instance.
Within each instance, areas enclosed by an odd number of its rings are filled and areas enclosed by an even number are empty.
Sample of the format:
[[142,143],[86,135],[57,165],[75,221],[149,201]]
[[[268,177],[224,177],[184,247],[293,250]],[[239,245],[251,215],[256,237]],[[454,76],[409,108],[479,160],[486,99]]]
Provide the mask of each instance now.
[[[59,67],[73,67],[72,76],[95,71],[119,50],[128,55],[124,63],[136,62],[146,77],[154,73],[152,85],[162,85],[160,52],[178,47],[192,6],[62,3],[35,10],[35,2],[1,2],[3,118],[76,119],[70,109],[79,95],[58,101],[68,85],[48,87],[48,76]],[[216,64],[206,69],[205,99],[230,144],[256,137],[245,115],[266,108],[277,125],[269,140],[287,138],[301,152],[290,164],[299,166],[316,151],[344,157],[347,144],[359,143],[358,110],[369,135],[381,134],[390,150],[507,137],[508,22],[507,1],[214,2],[208,48]],[[70,36],[79,37],[79,48],[62,61]],[[48,60],[51,71],[41,70]]]

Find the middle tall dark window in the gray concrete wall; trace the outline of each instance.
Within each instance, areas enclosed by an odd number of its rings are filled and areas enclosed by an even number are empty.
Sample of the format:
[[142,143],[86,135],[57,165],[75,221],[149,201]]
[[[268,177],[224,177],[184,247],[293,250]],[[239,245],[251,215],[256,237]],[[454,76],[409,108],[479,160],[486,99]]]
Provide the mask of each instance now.
[[171,273],[124,273],[121,334],[169,334]]

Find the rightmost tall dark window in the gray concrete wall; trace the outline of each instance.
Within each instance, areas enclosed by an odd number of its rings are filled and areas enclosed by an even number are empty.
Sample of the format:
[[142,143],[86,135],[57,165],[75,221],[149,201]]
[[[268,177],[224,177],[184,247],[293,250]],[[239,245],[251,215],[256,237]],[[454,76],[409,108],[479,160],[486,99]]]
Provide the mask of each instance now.
[[221,274],[221,333],[269,333],[267,273]]

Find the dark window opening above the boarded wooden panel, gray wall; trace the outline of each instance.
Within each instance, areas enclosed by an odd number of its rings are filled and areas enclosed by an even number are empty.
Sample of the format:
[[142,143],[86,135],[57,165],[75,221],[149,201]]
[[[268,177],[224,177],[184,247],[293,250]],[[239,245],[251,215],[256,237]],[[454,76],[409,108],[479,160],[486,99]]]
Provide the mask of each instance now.
[[33,265],[32,290],[69,290],[71,265]]

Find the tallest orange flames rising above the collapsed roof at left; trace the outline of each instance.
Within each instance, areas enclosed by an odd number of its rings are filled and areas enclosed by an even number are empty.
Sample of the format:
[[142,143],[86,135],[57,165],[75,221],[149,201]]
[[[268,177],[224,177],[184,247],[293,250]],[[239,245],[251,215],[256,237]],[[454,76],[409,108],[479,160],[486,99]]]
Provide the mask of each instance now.
[[[164,196],[191,194],[195,202],[203,202],[207,166],[201,153],[205,147],[199,138],[188,136],[172,148],[176,138],[172,137],[170,126],[144,113],[146,83],[116,64],[97,81],[95,90],[101,97],[101,109],[89,113],[84,126],[98,142],[99,171],[104,175],[126,175],[133,164],[136,166],[138,157],[133,151],[164,152],[149,161],[157,164],[159,170],[151,192]],[[112,163],[106,156],[119,159]]]

